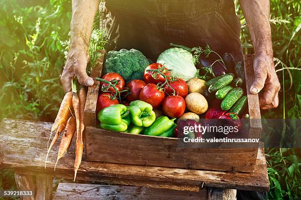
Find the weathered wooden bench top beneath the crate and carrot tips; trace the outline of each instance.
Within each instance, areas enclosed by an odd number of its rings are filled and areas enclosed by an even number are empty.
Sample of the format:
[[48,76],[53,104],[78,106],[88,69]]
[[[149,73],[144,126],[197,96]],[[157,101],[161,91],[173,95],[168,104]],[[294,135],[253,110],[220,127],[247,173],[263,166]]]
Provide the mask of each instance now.
[[[58,146],[55,144],[49,154],[47,169],[44,161],[47,152],[47,142],[51,123],[31,122],[23,120],[4,119],[0,125],[0,167],[31,171],[36,174],[45,173],[52,176],[65,175],[73,177],[74,141],[63,158],[60,159],[56,172],[54,165]],[[143,167],[136,165],[109,164],[86,161],[85,155],[78,177],[86,180],[120,179],[150,182],[154,186],[193,185],[227,187],[233,189],[267,191],[269,179],[267,174],[264,150],[260,149],[253,173],[232,173],[217,171],[185,170],[166,167]],[[162,184],[162,185],[161,185]]]

